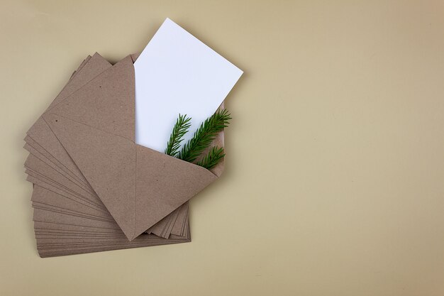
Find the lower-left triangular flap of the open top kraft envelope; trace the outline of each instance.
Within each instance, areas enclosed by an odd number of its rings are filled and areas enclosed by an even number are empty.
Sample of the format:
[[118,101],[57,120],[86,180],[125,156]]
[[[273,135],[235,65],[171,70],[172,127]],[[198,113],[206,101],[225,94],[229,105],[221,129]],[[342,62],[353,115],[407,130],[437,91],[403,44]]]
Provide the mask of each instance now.
[[135,226],[135,143],[57,114],[43,116],[123,233]]

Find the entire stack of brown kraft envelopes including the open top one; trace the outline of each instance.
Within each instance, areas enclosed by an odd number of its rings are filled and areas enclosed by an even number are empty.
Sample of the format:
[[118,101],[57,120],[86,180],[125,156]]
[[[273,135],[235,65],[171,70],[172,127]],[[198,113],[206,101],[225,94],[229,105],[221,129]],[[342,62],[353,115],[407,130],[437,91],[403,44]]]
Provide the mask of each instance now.
[[191,240],[188,200],[223,162],[206,170],[135,144],[136,58],[88,56],[27,133],[41,257]]

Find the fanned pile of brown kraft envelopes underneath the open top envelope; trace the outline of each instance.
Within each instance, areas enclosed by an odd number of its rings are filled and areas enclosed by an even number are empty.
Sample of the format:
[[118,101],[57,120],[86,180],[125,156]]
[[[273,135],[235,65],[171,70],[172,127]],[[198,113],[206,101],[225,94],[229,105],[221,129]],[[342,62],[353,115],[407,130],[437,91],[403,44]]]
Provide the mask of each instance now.
[[[136,55],[132,56],[133,60],[137,57]],[[70,94],[82,87],[82,85],[73,87],[73,84],[77,82],[78,85],[79,80],[84,81],[85,76],[91,77],[91,72],[96,72],[98,67],[107,63],[103,57],[95,54],[91,63],[88,64],[90,58],[84,61],[78,70],[74,71],[70,81],[55,101],[62,102],[66,97],[65,94]],[[81,71],[85,65],[89,66],[89,70]],[[75,77],[77,75],[79,76]],[[70,91],[67,92],[67,89],[70,89]],[[64,97],[61,96],[62,94]],[[37,141],[34,141],[30,135],[35,137]],[[218,135],[213,144],[223,146],[223,132]],[[156,236],[141,234],[135,240],[128,242],[128,239],[106,209],[91,208],[90,202],[96,204],[94,202],[96,197],[94,190],[84,179],[82,172],[72,163],[70,155],[67,154],[65,148],[43,119],[40,118],[28,132],[26,148],[31,154],[26,161],[26,172],[28,173],[28,180],[35,184],[32,198],[33,220],[38,253],[41,257],[157,246],[191,240],[188,223],[188,202],[186,202],[148,229],[148,233]],[[57,158],[52,156],[52,153],[57,155]],[[74,170],[67,170],[67,168]],[[223,163],[219,163],[211,171],[217,174],[217,172],[221,172],[222,168]],[[72,171],[76,174],[72,174]],[[79,190],[79,186],[83,189]],[[69,188],[70,190],[67,191]],[[82,195],[85,195],[84,190],[89,191],[89,189],[94,193],[93,200],[90,196],[86,199],[88,202],[85,203],[86,197]],[[98,198],[97,201],[102,204]],[[106,221],[111,222],[111,224],[104,224]]]

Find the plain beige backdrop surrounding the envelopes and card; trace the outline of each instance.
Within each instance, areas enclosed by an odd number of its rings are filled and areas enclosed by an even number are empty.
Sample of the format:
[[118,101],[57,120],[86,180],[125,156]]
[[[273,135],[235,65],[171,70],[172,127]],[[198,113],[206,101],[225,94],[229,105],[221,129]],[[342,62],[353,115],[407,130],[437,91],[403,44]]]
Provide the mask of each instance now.
[[[0,295],[444,295],[443,1],[1,0]],[[192,243],[40,259],[23,137],[166,17],[245,71]]]

